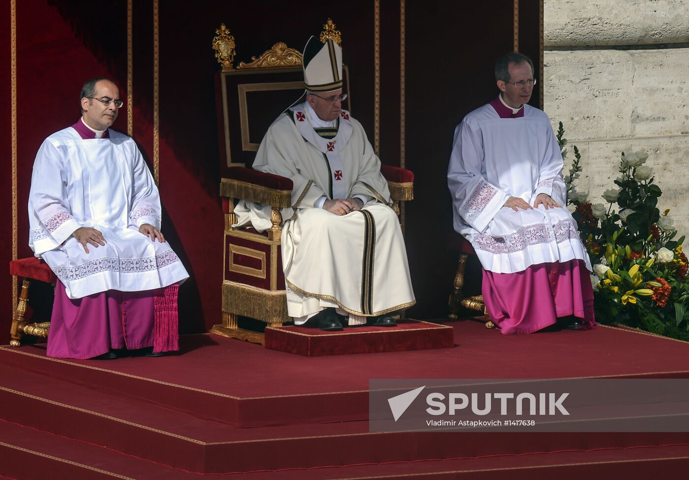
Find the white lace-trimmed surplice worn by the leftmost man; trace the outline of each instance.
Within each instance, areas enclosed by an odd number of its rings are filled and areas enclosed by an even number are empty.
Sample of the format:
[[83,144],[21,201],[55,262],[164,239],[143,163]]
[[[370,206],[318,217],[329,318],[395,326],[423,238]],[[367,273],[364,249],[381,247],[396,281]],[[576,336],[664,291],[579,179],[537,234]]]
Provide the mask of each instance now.
[[[167,242],[138,231],[161,228],[153,177],[132,138],[83,139],[72,127],[45,139],[29,194],[29,244],[65,285],[69,298],[110,289],[145,291],[189,277]],[[79,227],[103,233],[105,245],[85,253],[72,237]]]

